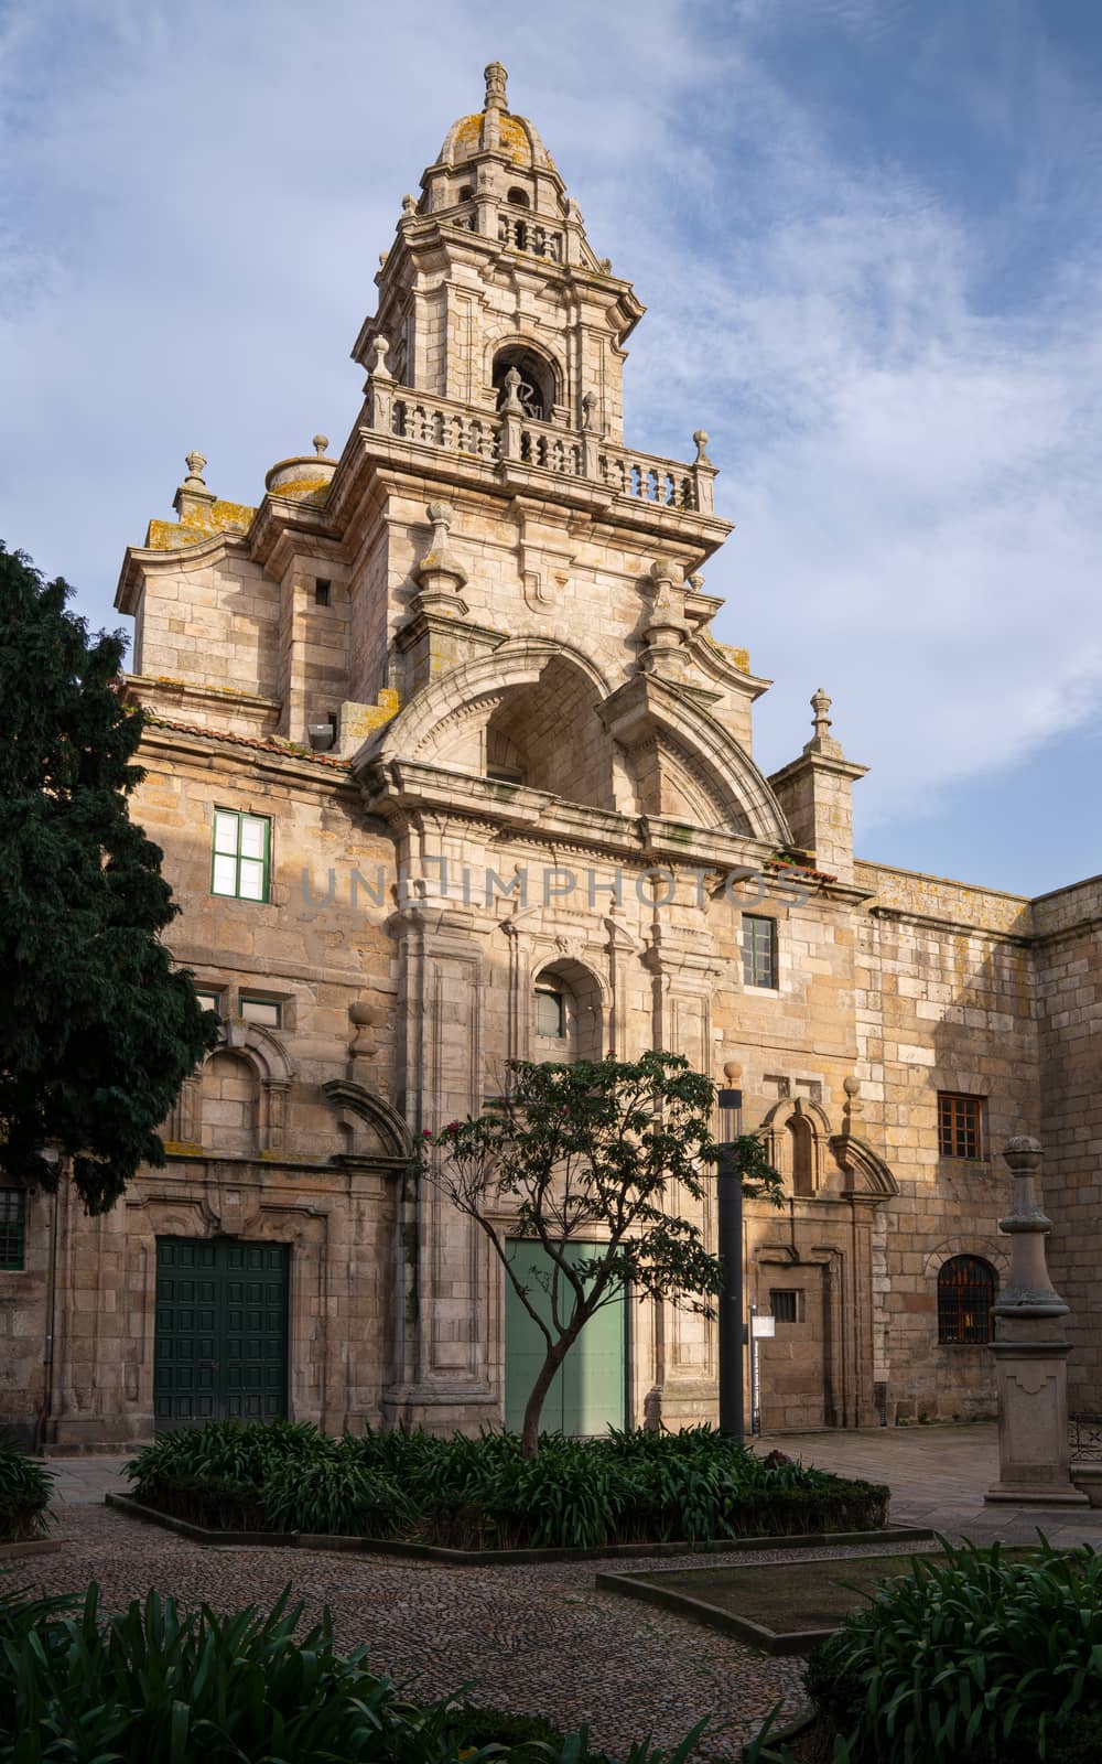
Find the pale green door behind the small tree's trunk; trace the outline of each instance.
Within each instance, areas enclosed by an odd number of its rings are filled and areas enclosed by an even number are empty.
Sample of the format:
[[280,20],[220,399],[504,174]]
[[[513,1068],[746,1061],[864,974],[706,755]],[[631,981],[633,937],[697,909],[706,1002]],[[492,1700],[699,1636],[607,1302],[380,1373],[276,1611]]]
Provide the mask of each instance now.
[[[571,1261],[592,1254],[592,1244],[571,1244]],[[510,1261],[520,1272],[529,1297],[550,1316],[550,1297],[538,1275],[550,1277],[554,1263],[541,1244],[510,1242]],[[603,1305],[589,1319],[555,1372],[540,1427],[543,1432],[603,1434],[624,1425],[628,1316],[624,1300]],[[504,1282],[504,1424],[520,1432],[524,1406],[543,1365],[545,1341],[524,1309],[513,1282]]]

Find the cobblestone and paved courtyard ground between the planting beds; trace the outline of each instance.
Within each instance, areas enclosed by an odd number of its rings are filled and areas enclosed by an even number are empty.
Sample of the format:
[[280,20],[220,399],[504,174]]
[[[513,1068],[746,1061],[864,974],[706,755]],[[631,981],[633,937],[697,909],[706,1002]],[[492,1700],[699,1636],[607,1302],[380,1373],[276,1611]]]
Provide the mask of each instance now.
[[[1054,1542],[1102,1542],[1102,1512],[982,1506],[994,1480],[993,1427],[762,1441],[762,1448],[771,1445],[825,1469],[887,1482],[896,1522],[1014,1538],[1031,1538],[1042,1524]],[[102,1506],[108,1489],[125,1487],[123,1462],[53,1461],[56,1535],[65,1549],[19,1563],[21,1581],[60,1593],[81,1591],[95,1579],[108,1609],[141,1598],[148,1588],[222,1609],[268,1603],[291,1582],[307,1618],[330,1605],[342,1646],[365,1642],[376,1671],[416,1678],[425,1697],[473,1685],[480,1702],[541,1713],[566,1729],[589,1722],[594,1743],[614,1753],[647,1732],[674,1745],[707,1715],[704,1757],[732,1759],[778,1700],[783,1715],[802,1702],[799,1660],[767,1658],[733,1637],[594,1588],[601,1568],[682,1568],[700,1565],[700,1558],[444,1568],[326,1551],[212,1549]],[[823,1552],[785,1551],[783,1559],[811,1554]],[[723,1559],[778,1558],[732,1552]]]

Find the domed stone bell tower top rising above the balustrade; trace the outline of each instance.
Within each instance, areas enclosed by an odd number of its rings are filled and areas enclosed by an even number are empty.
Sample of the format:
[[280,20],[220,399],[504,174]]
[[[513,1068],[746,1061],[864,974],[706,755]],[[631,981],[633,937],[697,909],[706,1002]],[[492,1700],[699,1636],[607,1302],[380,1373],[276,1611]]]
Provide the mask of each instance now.
[[402,386],[622,443],[624,342],[644,307],[596,258],[506,79],[490,62],[483,109],[451,125],[420,199],[404,199],[353,356],[377,370],[383,339]]

